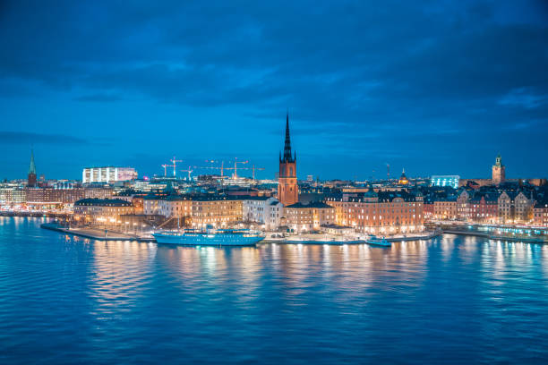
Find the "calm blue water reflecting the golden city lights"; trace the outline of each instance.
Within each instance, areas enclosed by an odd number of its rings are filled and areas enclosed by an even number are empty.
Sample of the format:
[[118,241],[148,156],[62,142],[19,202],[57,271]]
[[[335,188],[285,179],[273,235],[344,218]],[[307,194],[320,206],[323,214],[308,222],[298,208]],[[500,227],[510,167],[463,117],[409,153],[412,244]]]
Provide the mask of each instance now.
[[548,363],[548,246],[97,242],[0,217],[0,363]]

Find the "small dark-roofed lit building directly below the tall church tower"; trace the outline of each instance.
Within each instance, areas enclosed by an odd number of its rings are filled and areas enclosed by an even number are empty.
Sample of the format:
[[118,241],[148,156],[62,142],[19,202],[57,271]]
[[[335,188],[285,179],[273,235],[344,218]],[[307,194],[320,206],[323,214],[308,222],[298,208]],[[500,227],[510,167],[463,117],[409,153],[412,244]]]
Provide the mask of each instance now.
[[284,207],[286,224],[295,233],[321,230],[322,225],[335,224],[335,208],[323,202],[298,202]]

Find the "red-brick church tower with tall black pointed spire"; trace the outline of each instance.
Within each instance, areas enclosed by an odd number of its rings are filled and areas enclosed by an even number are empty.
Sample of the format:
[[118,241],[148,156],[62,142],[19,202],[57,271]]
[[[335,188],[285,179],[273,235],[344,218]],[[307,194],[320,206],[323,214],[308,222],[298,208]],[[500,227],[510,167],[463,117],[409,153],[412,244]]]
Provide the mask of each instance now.
[[287,207],[299,201],[299,188],[296,181],[296,154],[291,156],[289,138],[289,114],[286,116],[286,143],[284,156],[279,155],[278,199]]

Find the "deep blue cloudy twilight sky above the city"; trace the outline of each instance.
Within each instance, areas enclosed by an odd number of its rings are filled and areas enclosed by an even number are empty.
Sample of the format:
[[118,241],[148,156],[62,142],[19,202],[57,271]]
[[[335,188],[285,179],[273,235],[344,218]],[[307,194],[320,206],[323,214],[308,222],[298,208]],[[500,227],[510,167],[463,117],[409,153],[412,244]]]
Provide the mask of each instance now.
[[2,1],[0,178],[274,177],[287,109],[299,178],[548,176],[545,1],[185,3]]

